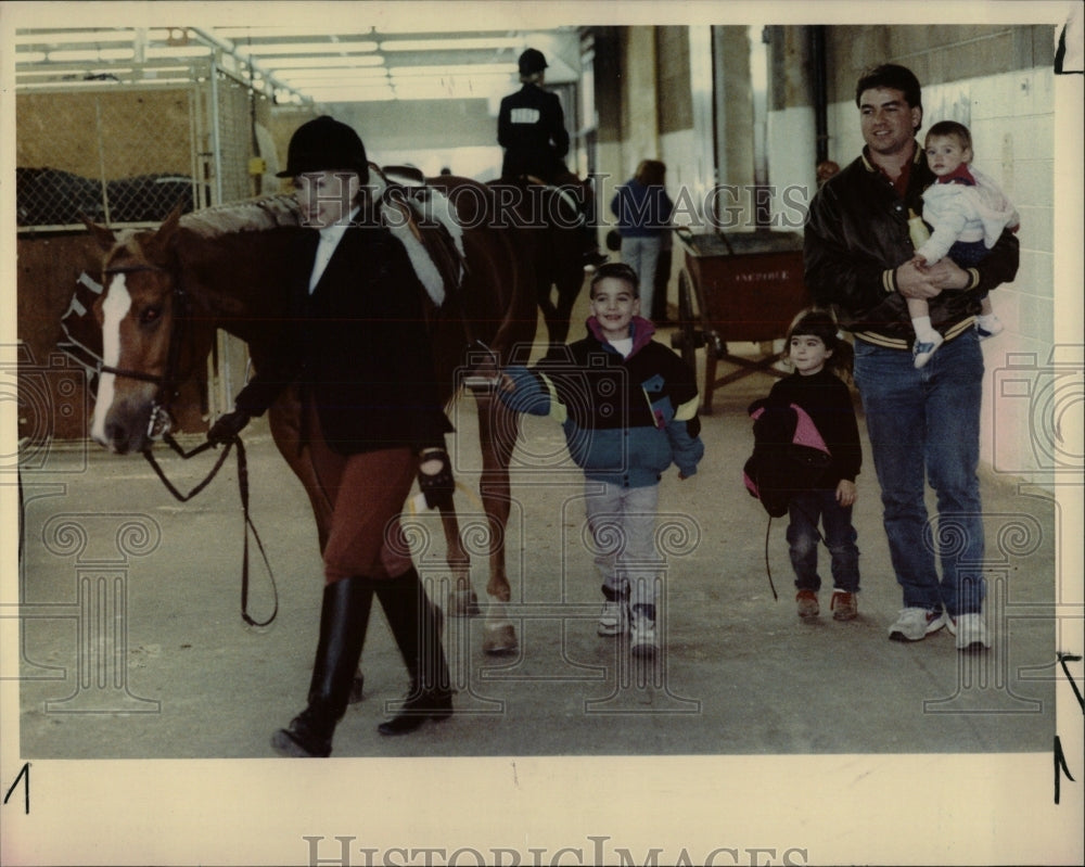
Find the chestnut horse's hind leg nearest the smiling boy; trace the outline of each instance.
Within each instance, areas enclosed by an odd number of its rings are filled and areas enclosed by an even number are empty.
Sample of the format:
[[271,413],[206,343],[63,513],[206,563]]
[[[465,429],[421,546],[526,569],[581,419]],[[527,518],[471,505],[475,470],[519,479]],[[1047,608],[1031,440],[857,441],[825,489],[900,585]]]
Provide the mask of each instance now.
[[482,649],[486,653],[512,653],[518,642],[515,627],[507,613],[512,590],[506,574],[505,530],[509,523],[511,502],[509,462],[516,445],[520,417],[493,396],[476,395],[476,399],[483,458],[480,490],[489,526],[489,583],[486,594],[490,603],[486,611]]

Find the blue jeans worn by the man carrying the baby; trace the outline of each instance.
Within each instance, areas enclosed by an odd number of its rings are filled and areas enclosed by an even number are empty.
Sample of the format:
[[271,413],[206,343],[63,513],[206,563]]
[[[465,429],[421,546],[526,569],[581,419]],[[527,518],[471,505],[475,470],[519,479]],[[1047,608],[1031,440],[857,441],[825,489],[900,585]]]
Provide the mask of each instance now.
[[[919,370],[907,350],[856,340],[855,383],[904,607],[944,607],[953,617],[979,613],[985,594],[976,476],[983,356],[975,332],[944,343]],[[936,496],[936,525],[928,521],[926,482]]]

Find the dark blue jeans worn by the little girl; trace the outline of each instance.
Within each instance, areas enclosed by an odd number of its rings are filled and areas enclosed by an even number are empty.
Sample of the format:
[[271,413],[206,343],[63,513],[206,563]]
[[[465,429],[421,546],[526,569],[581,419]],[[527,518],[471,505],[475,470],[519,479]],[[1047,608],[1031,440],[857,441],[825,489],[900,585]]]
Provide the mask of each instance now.
[[852,507],[837,502],[837,492],[804,490],[791,497],[788,506],[788,545],[791,565],[795,570],[795,587],[817,591],[821,576],[817,573],[818,519],[825,527],[829,548],[832,586],[854,594],[859,589],[859,549],[852,526]]

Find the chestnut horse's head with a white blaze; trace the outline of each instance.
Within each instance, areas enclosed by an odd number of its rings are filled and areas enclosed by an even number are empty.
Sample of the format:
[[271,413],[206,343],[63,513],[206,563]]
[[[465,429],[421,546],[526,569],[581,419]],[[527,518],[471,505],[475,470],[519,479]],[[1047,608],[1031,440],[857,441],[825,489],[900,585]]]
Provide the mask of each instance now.
[[142,451],[168,429],[177,371],[174,331],[182,316],[170,239],[175,211],[157,231],[113,231],[87,222],[105,251],[103,291],[94,305],[102,328],[102,374],[91,436],[111,451]]

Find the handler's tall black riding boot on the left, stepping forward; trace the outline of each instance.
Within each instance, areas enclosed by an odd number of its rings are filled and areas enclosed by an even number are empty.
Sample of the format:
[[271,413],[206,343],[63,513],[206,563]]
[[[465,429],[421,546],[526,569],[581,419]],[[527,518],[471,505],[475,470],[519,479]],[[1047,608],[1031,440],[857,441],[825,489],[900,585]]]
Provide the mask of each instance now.
[[276,752],[289,756],[331,754],[332,735],[346,711],[372,604],[373,583],[369,578],[342,578],[324,587],[309,703],[288,728],[271,736]]

